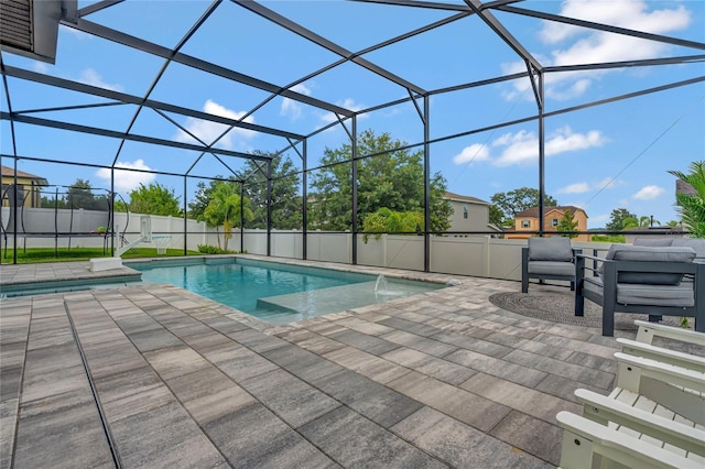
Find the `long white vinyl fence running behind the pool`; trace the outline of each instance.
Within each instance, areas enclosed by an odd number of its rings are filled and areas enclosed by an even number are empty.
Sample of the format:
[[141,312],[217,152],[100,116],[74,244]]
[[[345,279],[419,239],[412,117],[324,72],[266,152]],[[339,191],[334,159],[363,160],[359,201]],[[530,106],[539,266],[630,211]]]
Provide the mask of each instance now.
[[[70,210],[58,210],[70,212]],[[2,223],[8,228],[9,208],[2,208]],[[26,231],[68,232],[67,214],[59,214],[58,223],[55,222],[53,209],[32,208],[24,214],[24,227]],[[48,248],[54,247],[104,247],[105,238],[100,234],[89,234],[90,230],[105,226],[106,212],[93,210],[74,210],[73,230],[85,230],[82,234],[55,238],[52,236],[20,234],[18,246],[20,248]],[[116,214],[116,232],[124,232],[126,241],[131,242],[140,237],[140,214]],[[99,225],[100,223],[100,225]],[[94,227],[95,225],[95,227]],[[169,248],[184,248],[184,220],[175,217],[151,216],[153,237],[169,237]],[[221,230],[208,228],[204,222],[186,220],[186,248],[198,250],[199,244],[224,246]],[[6,242],[12,248],[12,233],[7,233],[7,240],[1,240],[4,249]],[[306,259],[323,262],[352,262],[352,234],[326,231],[310,231],[306,236]],[[120,239],[113,239],[116,249]],[[270,252],[273,257],[303,259],[303,234],[297,230],[272,230],[270,238]],[[574,247],[583,248],[584,252],[592,254],[595,249],[606,251],[609,243],[574,242]],[[110,247],[108,239],[106,246]],[[153,240],[151,246],[156,248]],[[432,272],[471,275],[491,279],[521,280],[521,248],[527,246],[524,240],[506,240],[489,236],[468,237],[431,237],[430,270]],[[260,229],[247,229],[242,237],[239,230],[232,232],[228,240],[228,249],[232,251],[243,250],[251,254],[267,254],[267,231]],[[381,268],[409,269],[423,271],[424,269],[424,242],[421,236],[369,236],[367,242],[358,234],[357,263],[360,265],[373,265]]]

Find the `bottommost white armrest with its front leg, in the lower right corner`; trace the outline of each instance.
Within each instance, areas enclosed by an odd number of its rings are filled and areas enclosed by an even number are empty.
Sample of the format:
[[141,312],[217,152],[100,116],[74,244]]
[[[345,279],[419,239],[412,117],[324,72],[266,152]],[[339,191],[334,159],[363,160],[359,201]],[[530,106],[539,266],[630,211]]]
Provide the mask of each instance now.
[[697,461],[566,411],[558,412],[556,419],[565,429],[561,451],[561,467],[564,469],[593,467],[594,454],[633,468],[699,467]]

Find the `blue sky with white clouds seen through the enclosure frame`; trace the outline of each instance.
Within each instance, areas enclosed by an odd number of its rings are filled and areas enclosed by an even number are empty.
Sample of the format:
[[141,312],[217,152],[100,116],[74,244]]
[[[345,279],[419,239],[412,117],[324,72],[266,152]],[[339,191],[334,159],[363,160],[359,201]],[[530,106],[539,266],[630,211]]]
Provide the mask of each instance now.
[[[79,2],[79,7],[90,3]],[[171,48],[209,3],[200,0],[127,1],[85,19]],[[454,14],[442,10],[348,1],[275,1],[262,4],[352,52]],[[699,0],[530,0],[516,6],[705,42],[705,2]],[[597,32],[508,12],[495,14],[543,65],[703,54],[703,50],[664,42]],[[405,88],[349,62],[292,86],[299,78],[335,63],[339,56],[227,0],[218,6],[181,52],[351,110],[367,110],[409,96]],[[7,52],[2,53],[2,58],[8,65],[139,97],[145,96],[164,64],[161,57],[66,26],[59,29],[54,65]],[[425,90],[525,70],[517,54],[477,17],[467,17],[373,51],[365,54],[364,58]],[[545,79],[545,110],[557,111],[703,76],[705,62],[549,74]],[[9,78],[8,86],[14,111],[107,101],[58,88],[47,89],[15,78]],[[267,91],[177,63],[166,67],[150,95],[150,99],[229,118],[240,118],[265,102],[246,121],[302,134],[335,121],[335,116],[327,111],[282,97],[267,101],[269,97]],[[525,78],[433,95],[430,108],[432,139],[536,113],[533,91]],[[4,92],[2,110],[8,110]],[[31,116],[124,132],[135,110],[137,107],[126,105]],[[220,124],[193,118],[169,117],[208,143],[225,130]],[[9,123],[2,121],[0,126],[1,151],[12,154]],[[411,144],[423,140],[423,124],[410,102],[362,113],[357,126],[358,131],[371,128],[378,133],[390,132]],[[589,216],[590,228],[603,227],[611,210],[619,207],[638,216],[653,216],[664,223],[676,219],[673,208],[675,181],[668,171],[686,171],[691,162],[705,159],[704,129],[703,81],[546,118],[546,193],[562,205],[583,207]],[[194,142],[170,120],[149,109],[140,111],[132,132]],[[538,132],[536,121],[529,121],[438,141],[431,145],[432,170],[444,175],[448,190],[485,200],[498,192],[521,186],[536,187]],[[129,141],[118,150],[120,140],[117,139],[29,124],[15,124],[15,134],[20,156],[105,165],[117,159],[120,167],[176,173],[186,171],[197,160],[191,174],[208,176],[228,172],[213,155],[198,159],[199,153],[188,150]],[[311,138],[307,144],[308,166],[316,165],[325,148],[338,148],[346,141],[347,133],[340,126]],[[216,146],[250,152],[278,151],[286,144],[280,137],[236,129]],[[289,152],[289,155],[301,165],[295,153]],[[3,160],[3,164],[10,163]],[[227,164],[237,170],[241,161],[227,159]],[[96,168],[30,161],[21,161],[19,167],[48,178],[51,184],[68,185],[80,177],[89,179],[94,187],[109,187],[109,172]],[[116,173],[116,187],[122,194],[140,183],[151,182],[174,188],[183,197],[181,177]],[[187,199],[193,196],[195,184],[195,181],[188,183]]]

